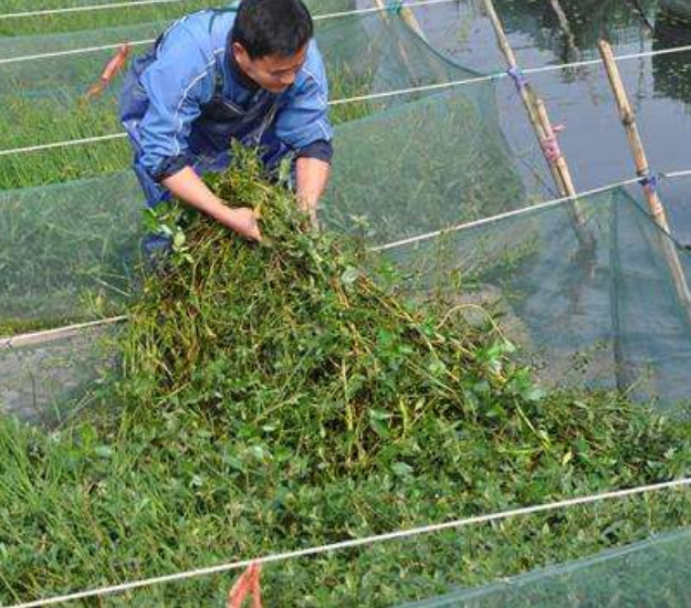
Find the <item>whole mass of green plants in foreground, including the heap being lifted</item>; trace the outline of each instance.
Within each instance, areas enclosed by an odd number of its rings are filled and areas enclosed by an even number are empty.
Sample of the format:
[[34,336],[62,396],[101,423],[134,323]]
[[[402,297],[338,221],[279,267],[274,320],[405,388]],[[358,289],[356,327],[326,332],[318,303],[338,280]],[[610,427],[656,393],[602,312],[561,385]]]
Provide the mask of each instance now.
[[[685,422],[545,392],[491,321],[407,303],[252,157],[210,184],[261,210],[264,243],[159,213],[175,252],[129,311],[102,407],[50,433],[0,420],[2,604],[688,472]],[[264,596],[390,605],[674,528],[689,506],[660,493],[296,559],[264,569]],[[220,605],[232,578],[121,600]]]

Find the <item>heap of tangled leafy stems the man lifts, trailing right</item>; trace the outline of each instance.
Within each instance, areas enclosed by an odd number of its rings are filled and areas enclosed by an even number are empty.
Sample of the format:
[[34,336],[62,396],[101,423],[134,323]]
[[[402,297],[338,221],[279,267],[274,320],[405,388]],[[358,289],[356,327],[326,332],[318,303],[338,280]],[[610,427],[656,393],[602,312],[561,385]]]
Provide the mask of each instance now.
[[[635,407],[545,395],[499,332],[407,304],[365,270],[355,243],[311,230],[293,193],[266,181],[252,154],[234,154],[234,167],[209,184],[261,212],[266,244],[201,217],[185,234],[176,229],[170,264],[132,311],[125,401],[191,408],[214,432],[303,458],[332,479],[383,462],[398,473],[432,465],[438,454],[420,436],[449,426],[451,452],[467,444],[471,461],[473,445],[488,442],[483,450],[527,470],[573,461],[585,472],[594,441],[617,453],[647,444],[648,432],[634,431]],[[647,476],[643,454],[615,458],[611,473]]]

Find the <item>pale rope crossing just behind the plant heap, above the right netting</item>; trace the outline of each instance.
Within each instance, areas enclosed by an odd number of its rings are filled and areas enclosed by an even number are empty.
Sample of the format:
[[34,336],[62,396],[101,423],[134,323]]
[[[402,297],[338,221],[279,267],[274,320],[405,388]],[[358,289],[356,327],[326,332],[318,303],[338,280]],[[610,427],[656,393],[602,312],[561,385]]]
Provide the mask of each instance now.
[[[664,174],[658,174],[660,178],[663,179],[676,179],[676,178],[680,178],[680,177],[689,177],[691,176],[691,169],[687,169],[687,170],[680,170],[680,171],[670,171],[670,172],[664,172]],[[433,232],[427,232],[425,234],[419,234],[417,237],[410,237],[408,239],[401,239],[400,241],[394,241],[390,243],[386,243],[383,245],[377,245],[377,247],[373,247],[369,248],[369,251],[377,253],[380,251],[388,251],[391,249],[397,249],[400,247],[405,247],[408,244],[415,244],[418,242],[422,242],[422,241],[428,241],[430,239],[435,239],[437,237],[441,237],[443,234],[449,234],[452,232],[461,232],[462,230],[470,230],[472,228],[478,228],[480,226],[486,226],[486,224],[491,224],[494,222],[499,222],[501,220],[505,220],[507,218],[515,218],[517,216],[523,216],[525,213],[530,213],[531,211],[541,211],[544,209],[548,209],[551,207],[556,207],[558,205],[563,205],[565,202],[569,202],[573,200],[577,200],[579,198],[585,198],[585,197],[589,197],[589,196],[595,196],[595,195],[600,195],[603,192],[607,192],[609,190],[614,190],[616,188],[620,188],[622,186],[630,186],[632,184],[638,184],[640,181],[639,177],[634,177],[630,179],[625,179],[622,181],[618,181],[615,184],[609,184],[607,186],[603,186],[600,188],[595,188],[593,190],[586,190],[584,192],[580,192],[578,195],[576,195],[576,197],[574,198],[569,198],[569,197],[562,197],[562,198],[557,198],[557,199],[553,199],[553,200],[548,200],[545,202],[541,202],[537,205],[532,205],[528,207],[522,207],[521,209],[514,209],[513,211],[506,211],[505,213],[499,213],[496,216],[491,216],[489,218],[483,218],[480,220],[473,220],[473,221],[469,221],[469,222],[464,222],[464,223],[459,223],[459,224],[454,224],[448,228],[443,228],[440,230],[436,230]],[[82,323],[78,325],[69,325],[65,327],[59,327],[56,329],[46,329],[46,331],[41,331],[41,332],[31,332],[31,333],[25,333],[25,334],[19,334],[17,336],[9,336],[9,337],[4,337],[4,338],[0,338],[0,347],[3,346],[20,346],[20,345],[24,345],[24,344],[36,344],[41,342],[41,338],[45,337],[48,340],[50,340],[53,336],[54,333],[56,332],[63,332],[61,334],[61,337],[70,337],[73,336],[75,334],[78,334],[81,332],[81,329],[84,328],[91,328],[91,327],[97,327],[101,325],[112,325],[115,323],[122,323],[125,322],[127,319],[126,316],[115,316],[115,317],[108,317],[102,321],[92,321],[88,323]]]

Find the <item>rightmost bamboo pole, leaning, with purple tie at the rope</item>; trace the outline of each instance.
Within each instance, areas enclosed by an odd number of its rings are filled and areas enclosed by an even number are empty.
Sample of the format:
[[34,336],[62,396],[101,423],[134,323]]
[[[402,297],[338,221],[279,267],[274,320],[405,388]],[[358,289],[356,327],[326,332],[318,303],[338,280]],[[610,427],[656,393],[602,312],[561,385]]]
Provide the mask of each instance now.
[[640,133],[638,130],[638,125],[636,124],[636,113],[634,112],[634,108],[631,107],[631,104],[629,102],[629,97],[626,93],[626,88],[621,80],[621,74],[619,73],[617,62],[615,61],[611,46],[605,40],[600,40],[598,46],[600,55],[603,57],[603,62],[605,64],[607,77],[609,80],[609,84],[611,85],[615,101],[619,109],[621,124],[626,129],[631,155],[636,164],[636,172],[641,179],[646,180],[643,184],[646,202],[648,203],[648,208],[650,210],[650,214],[652,216],[653,221],[664,231],[666,234],[660,235],[662,252],[669,265],[670,274],[672,275],[672,281],[674,282],[677,295],[682,306],[685,308],[688,317],[687,321],[691,323],[691,292],[689,291],[687,277],[681,262],[679,261],[677,249],[674,248],[671,239],[668,238],[669,223],[664,213],[664,207],[662,206],[662,201],[658,196],[657,188],[651,181],[648,157],[646,156],[646,149],[643,147]]

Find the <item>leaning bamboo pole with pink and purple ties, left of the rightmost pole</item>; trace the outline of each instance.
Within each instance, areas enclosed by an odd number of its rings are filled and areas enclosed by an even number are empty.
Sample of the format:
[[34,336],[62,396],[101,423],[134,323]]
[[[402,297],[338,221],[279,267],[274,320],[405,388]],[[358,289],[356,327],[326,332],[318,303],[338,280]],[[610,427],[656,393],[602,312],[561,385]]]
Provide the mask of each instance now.
[[[496,42],[499,44],[500,51],[504,55],[510,72],[514,75],[514,78],[516,78],[516,87],[519,94],[521,95],[521,101],[523,102],[525,112],[527,113],[528,120],[533,126],[533,132],[535,133],[535,137],[537,138],[537,144],[540,145],[541,149],[544,150],[545,145],[556,144],[555,130],[547,115],[544,102],[540,98],[535,90],[528,83],[520,82],[521,76],[519,74],[519,62],[513,52],[513,49],[511,48],[509,36],[506,36],[506,33],[504,32],[504,27],[499,19],[499,14],[496,13],[496,10],[494,8],[494,2],[493,0],[483,0],[483,2],[485,12],[490,18],[490,21],[492,22],[492,28],[494,29],[494,34],[496,35]],[[574,187],[574,180],[572,178],[566,158],[561,153],[558,155],[555,155],[554,158],[547,158],[547,155],[544,156],[545,161],[549,167],[549,171],[552,172],[552,179],[554,180],[554,184],[556,185],[559,195],[563,197],[573,198],[573,201],[570,202],[568,208],[578,242],[584,248],[593,249],[595,247],[595,241],[593,239],[593,235],[589,234],[585,228],[583,210],[576,201],[577,193]]]

